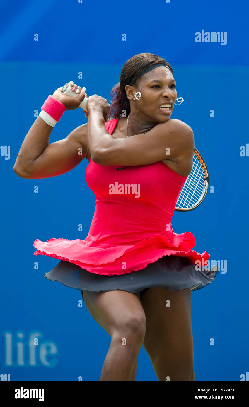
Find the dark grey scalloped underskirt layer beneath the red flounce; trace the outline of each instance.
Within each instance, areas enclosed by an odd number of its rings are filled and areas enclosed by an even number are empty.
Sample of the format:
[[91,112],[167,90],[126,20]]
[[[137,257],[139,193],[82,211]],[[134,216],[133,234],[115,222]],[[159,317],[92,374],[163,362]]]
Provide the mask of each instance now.
[[214,281],[217,273],[217,266],[197,271],[194,263],[187,257],[170,255],[149,263],[144,269],[114,276],[90,273],[76,264],[61,260],[51,271],[45,273],[44,277],[80,290],[83,297],[83,290],[99,292],[120,289],[137,293],[163,287],[168,291],[186,288],[195,291]]

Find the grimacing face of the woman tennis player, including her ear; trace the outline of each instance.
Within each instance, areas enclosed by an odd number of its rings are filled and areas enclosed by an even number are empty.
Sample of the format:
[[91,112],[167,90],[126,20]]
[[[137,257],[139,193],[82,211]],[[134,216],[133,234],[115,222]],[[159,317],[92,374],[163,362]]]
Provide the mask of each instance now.
[[[130,99],[131,111],[141,116],[141,119],[152,119],[164,123],[170,119],[174,103],[177,98],[176,82],[171,71],[158,66],[137,79],[136,86],[127,88]],[[134,100],[135,92],[140,92],[141,97]],[[159,107],[163,105],[164,107]]]

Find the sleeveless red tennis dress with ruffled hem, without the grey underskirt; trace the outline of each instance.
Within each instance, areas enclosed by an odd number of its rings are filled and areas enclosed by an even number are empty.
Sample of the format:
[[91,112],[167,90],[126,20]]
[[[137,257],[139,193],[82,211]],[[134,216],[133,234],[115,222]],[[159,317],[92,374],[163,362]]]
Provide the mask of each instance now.
[[[118,119],[105,124],[110,134]],[[35,255],[65,260],[90,273],[113,276],[144,269],[163,256],[207,264],[209,254],[193,250],[191,232],[173,232],[171,220],[187,177],[162,161],[141,166],[101,166],[90,159],[86,182],[96,204],[84,240],[36,239]]]

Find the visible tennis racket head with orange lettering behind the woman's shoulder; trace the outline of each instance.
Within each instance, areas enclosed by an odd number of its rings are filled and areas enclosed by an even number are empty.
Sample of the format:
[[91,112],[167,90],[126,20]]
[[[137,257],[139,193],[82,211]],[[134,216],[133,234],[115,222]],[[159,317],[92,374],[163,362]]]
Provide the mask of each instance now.
[[194,147],[192,171],[182,186],[175,210],[186,212],[197,208],[208,192],[208,182],[208,168],[202,155]]

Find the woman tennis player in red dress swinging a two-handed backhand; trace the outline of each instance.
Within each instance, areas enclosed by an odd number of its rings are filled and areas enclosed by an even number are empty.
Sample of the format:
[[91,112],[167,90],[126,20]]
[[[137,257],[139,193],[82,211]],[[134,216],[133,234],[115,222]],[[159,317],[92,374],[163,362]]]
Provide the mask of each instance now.
[[90,96],[87,123],[49,144],[63,112],[87,96],[70,85],[78,96],[62,88],[48,96],[14,171],[28,179],[55,177],[87,158],[94,217],[84,240],[36,239],[34,254],[60,260],[45,277],[80,290],[110,335],[100,380],[135,381],[143,345],[158,380],[193,381],[191,291],[210,284],[216,271],[196,269],[209,254],[194,251],[193,234],[177,234],[171,224],[194,152],[190,126],[170,118],[177,100],[172,67],[151,53],[133,56],[111,90],[111,105]]

